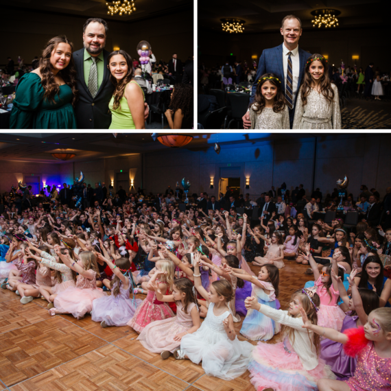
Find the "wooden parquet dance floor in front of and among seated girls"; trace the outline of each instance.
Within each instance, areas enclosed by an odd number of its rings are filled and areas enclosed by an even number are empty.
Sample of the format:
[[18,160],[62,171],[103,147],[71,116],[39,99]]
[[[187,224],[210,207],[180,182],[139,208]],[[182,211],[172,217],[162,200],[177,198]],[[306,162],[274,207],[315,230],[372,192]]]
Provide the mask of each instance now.
[[[312,279],[305,270],[304,265],[285,260],[280,271],[282,309],[292,292]],[[130,327],[102,329],[89,315],[82,320],[71,315],[51,317],[45,300],[21,305],[19,299],[0,289],[0,391],[254,390],[248,371],[233,381],[207,376],[189,360],[163,360],[150,353]],[[235,324],[238,336],[240,328],[241,322]]]

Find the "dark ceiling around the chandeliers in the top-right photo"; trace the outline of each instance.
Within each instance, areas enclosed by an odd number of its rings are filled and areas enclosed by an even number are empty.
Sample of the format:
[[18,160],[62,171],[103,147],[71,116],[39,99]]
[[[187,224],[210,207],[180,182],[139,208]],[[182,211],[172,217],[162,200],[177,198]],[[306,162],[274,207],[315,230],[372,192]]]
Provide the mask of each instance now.
[[276,32],[288,14],[298,16],[303,28],[316,29],[312,27],[311,12],[320,9],[341,12],[338,29],[386,27],[390,24],[389,8],[389,0],[198,0],[198,31],[202,34],[207,29],[226,35],[220,19],[238,18],[246,21],[243,34]]

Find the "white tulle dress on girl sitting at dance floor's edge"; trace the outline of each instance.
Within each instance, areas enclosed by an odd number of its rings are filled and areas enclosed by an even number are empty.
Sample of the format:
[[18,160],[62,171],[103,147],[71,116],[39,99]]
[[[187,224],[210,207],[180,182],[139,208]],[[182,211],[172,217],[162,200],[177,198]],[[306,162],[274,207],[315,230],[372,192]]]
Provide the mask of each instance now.
[[230,313],[226,311],[215,316],[214,307],[214,303],[209,304],[208,314],[200,329],[182,337],[180,350],[195,364],[202,361],[206,375],[232,380],[246,372],[254,346],[239,341],[237,337],[233,341],[229,340],[223,320]]

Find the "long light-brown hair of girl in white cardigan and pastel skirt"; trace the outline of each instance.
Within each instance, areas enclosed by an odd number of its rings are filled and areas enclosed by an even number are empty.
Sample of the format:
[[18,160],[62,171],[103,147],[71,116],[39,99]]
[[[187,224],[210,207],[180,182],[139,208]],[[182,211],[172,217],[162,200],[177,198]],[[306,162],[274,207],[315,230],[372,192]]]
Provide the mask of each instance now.
[[[303,307],[305,313],[307,313],[308,320],[312,324],[317,325],[318,324],[318,315],[316,313],[316,308],[313,307],[313,305],[316,305],[316,307],[318,307],[318,308],[320,306],[320,298],[319,298],[318,294],[313,294],[313,296],[312,296],[313,304],[309,300],[308,296],[306,294],[304,294],[301,289],[299,289],[298,291],[294,292],[294,294],[292,294],[290,301],[292,302],[296,296],[299,296],[301,306]],[[300,316],[300,314],[298,316]],[[308,329],[307,329],[307,333],[309,336]],[[289,326],[286,326],[285,324],[283,324],[281,326],[281,334],[280,335],[281,335],[281,340],[284,340],[286,335],[289,335],[289,337],[292,337],[292,346],[294,345],[294,329],[292,329],[292,327],[289,327]],[[309,339],[311,340],[311,338],[309,338]],[[311,342],[311,344],[312,344],[312,342]],[[319,356],[319,354],[320,354],[320,335],[317,333],[313,333],[313,344],[316,348],[316,354]]]

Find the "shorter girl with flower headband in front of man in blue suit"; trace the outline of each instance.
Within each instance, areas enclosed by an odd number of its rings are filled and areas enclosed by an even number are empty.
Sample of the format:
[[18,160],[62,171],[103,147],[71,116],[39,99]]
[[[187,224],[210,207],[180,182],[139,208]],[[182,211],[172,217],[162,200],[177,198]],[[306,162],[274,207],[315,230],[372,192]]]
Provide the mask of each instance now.
[[265,73],[258,81],[250,121],[251,129],[289,129],[289,111],[281,80],[273,73]]

